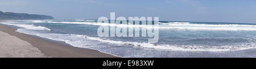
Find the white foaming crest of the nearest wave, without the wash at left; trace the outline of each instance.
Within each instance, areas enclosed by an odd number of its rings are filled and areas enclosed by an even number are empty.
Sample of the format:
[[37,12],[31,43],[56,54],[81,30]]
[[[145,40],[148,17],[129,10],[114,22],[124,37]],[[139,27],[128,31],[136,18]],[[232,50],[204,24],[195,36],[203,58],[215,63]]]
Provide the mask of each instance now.
[[242,45],[234,45],[234,46],[187,46],[187,45],[155,45],[148,44],[145,42],[123,42],[123,41],[113,41],[109,39],[101,39],[98,37],[89,37],[84,35],[76,35],[83,38],[88,38],[90,40],[96,40],[101,42],[108,42],[112,44],[122,44],[122,45],[131,45],[131,46],[141,46],[144,48],[155,48],[155,49],[167,49],[167,50],[183,50],[183,51],[229,51],[229,50],[244,50],[255,48],[255,46],[246,46],[246,44]]

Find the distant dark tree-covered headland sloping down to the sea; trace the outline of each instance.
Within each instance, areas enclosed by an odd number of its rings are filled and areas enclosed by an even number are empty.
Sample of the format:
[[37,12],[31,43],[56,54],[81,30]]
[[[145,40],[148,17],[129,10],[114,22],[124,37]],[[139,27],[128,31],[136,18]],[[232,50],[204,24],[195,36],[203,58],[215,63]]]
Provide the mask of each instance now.
[[0,11],[0,20],[49,20],[49,19],[54,19],[54,18],[48,15],[36,15],[36,14]]

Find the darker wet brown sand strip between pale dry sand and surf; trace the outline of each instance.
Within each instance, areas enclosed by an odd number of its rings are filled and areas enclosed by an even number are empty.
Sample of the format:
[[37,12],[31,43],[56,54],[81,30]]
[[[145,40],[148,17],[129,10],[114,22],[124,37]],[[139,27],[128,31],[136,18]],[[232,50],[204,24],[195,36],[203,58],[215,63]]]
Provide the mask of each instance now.
[[[2,20],[4,21],[4,20]],[[0,20],[1,22],[1,20]],[[118,58],[117,56],[101,53],[98,50],[76,48],[57,42],[44,40],[39,37],[16,32],[16,29],[0,24],[0,31],[15,36],[20,40],[27,41],[32,46],[38,48],[47,57],[53,58]],[[2,36],[0,36],[2,37]],[[1,52],[1,51],[0,51]]]

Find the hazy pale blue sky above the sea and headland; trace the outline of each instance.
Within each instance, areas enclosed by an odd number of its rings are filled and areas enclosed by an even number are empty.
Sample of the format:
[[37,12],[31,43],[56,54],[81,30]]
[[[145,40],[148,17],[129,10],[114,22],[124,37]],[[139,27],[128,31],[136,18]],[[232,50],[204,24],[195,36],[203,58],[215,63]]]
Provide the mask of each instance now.
[[256,23],[255,0],[0,0],[0,11],[55,19],[156,16],[159,20]]

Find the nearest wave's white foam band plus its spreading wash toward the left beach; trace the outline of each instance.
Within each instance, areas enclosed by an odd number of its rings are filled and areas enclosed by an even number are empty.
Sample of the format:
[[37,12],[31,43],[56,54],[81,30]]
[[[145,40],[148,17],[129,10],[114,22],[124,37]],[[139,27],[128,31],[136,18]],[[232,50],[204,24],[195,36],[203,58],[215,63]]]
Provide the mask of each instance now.
[[[76,46],[79,48],[88,48],[88,45],[97,45],[103,43],[110,44],[120,44],[123,46],[137,46],[142,48],[154,48],[154,49],[163,49],[163,50],[177,50],[177,51],[230,51],[230,50],[245,50],[255,48],[255,43],[244,43],[240,45],[232,45],[232,46],[191,46],[191,45],[155,45],[148,44],[145,42],[129,42],[129,41],[114,41],[109,40],[107,38],[100,37],[89,37],[85,35],[74,35],[74,34],[57,34],[57,33],[29,33],[24,32],[22,30],[18,30],[18,32],[27,33],[30,35],[36,35],[44,38],[49,38],[51,40],[56,41],[64,41],[67,44],[72,46]],[[93,41],[88,42],[88,40]],[[98,41],[98,42],[97,42]]]

